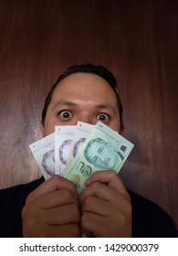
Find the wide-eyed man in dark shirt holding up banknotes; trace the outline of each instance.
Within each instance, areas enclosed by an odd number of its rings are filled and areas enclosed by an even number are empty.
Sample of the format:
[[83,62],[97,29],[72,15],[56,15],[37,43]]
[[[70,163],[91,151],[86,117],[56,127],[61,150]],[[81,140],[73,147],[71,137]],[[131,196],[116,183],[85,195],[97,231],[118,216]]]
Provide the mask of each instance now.
[[[47,95],[41,132],[55,125],[101,121],[121,133],[122,106],[109,70],[91,64],[61,75]],[[103,168],[104,169],[104,168]],[[128,191],[113,170],[94,173],[78,195],[71,181],[52,176],[1,191],[4,237],[174,237],[173,220],[158,206]]]

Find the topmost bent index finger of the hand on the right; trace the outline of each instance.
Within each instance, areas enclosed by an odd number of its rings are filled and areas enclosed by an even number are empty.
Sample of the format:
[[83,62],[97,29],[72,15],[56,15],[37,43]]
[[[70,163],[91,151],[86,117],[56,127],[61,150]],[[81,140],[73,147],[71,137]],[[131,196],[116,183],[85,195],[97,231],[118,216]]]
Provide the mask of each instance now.
[[112,187],[116,191],[118,191],[123,197],[126,197],[128,200],[130,200],[130,195],[127,192],[127,189],[123,185],[120,176],[118,176],[115,171],[97,171],[89,176],[89,178],[85,182],[85,186],[89,187],[92,183],[96,181],[107,184],[109,187]]

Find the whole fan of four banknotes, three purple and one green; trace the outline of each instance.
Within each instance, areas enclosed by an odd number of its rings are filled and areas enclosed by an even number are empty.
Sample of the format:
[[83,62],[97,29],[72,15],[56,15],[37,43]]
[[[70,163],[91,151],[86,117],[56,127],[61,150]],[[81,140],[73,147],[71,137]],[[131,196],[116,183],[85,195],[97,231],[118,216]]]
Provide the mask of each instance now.
[[85,180],[98,170],[120,171],[133,144],[104,123],[55,126],[51,133],[29,145],[45,179],[64,176],[80,193]]

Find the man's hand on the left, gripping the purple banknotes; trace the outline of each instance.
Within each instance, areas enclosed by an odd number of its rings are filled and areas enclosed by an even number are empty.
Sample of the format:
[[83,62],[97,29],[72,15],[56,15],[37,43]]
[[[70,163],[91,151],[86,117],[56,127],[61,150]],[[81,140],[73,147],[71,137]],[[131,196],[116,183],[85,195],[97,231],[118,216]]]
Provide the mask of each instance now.
[[79,198],[72,182],[52,176],[27,198],[24,237],[80,237]]

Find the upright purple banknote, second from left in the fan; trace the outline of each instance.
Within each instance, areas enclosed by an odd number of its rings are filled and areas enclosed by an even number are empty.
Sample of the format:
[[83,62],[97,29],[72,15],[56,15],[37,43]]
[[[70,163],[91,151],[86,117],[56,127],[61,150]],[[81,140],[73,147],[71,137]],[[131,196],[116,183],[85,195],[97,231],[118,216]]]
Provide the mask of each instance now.
[[55,126],[55,173],[64,176],[76,125]]

